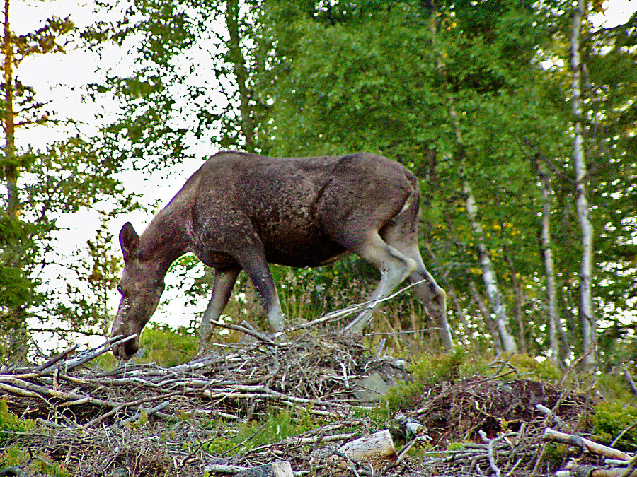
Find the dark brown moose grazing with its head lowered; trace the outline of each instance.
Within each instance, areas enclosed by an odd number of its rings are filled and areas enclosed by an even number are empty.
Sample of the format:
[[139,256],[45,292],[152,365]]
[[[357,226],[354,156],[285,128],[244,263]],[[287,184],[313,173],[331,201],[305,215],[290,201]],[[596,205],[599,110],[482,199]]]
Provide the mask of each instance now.
[[376,266],[381,279],[342,334],[362,333],[379,302],[409,278],[449,349],[446,295],[418,250],[419,212],[418,179],[381,155],[212,155],[141,236],[130,222],[120,231],[124,269],[112,336],[137,337],[115,346],[113,353],[122,359],[137,353],[139,334],[159,303],[168,268],[188,252],[215,270],[212,298],[200,324],[200,351],[241,270],[278,334],[285,322],[268,264],[320,266],[348,253]]

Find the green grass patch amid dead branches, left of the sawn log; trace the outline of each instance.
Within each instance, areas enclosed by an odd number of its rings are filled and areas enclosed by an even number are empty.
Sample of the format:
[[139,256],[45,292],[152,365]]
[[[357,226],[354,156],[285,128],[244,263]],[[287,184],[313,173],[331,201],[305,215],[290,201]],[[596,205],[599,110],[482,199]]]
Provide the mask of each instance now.
[[232,431],[216,437],[207,444],[212,454],[239,454],[263,444],[278,442],[292,435],[299,435],[322,425],[310,413],[276,411],[260,420],[239,423]]

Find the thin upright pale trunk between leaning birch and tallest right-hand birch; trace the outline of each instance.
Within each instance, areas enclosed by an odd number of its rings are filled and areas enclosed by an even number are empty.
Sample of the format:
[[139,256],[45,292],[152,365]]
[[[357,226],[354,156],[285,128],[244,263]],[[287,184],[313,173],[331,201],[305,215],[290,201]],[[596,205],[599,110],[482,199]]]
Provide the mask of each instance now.
[[560,351],[558,341],[560,317],[557,306],[553,245],[551,244],[551,184],[549,184],[549,177],[546,177],[544,167],[539,162],[537,163],[537,170],[542,184],[542,252],[544,252],[546,293],[549,298],[549,347],[551,349],[551,361],[557,365]]

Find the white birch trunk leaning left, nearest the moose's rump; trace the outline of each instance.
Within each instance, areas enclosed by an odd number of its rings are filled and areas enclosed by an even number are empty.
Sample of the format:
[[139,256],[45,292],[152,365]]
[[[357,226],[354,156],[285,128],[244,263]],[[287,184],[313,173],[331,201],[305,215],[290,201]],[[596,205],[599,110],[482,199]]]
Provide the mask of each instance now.
[[464,192],[466,201],[466,212],[469,215],[469,220],[471,220],[471,229],[474,231],[476,242],[478,243],[482,277],[486,285],[489,301],[495,313],[495,322],[498,324],[502,348],[505,353],[512,353],[517,351],[517,343],[515,343],[515,338],[509,330],[509,318],[507,317],[505,305],[502,300],[502,293],[500,293],[500,288],[498,287],[498,279],[495,277],[493,264],[491,263],[486,245],[484,245],[484,231],[482,224],[478,220],[478,206],[476,205],[471,184],[469,184],[469,180],[466,178],[462,184],[462,192]]

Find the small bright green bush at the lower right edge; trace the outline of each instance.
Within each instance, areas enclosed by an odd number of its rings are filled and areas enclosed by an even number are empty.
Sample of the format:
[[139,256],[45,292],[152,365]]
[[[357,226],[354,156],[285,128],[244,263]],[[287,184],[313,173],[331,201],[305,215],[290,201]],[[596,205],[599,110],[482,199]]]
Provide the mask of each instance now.
[[602,402],[592,416],[594,440],[616,449],[634,452],[637,449],[637,406],[621,402]]

